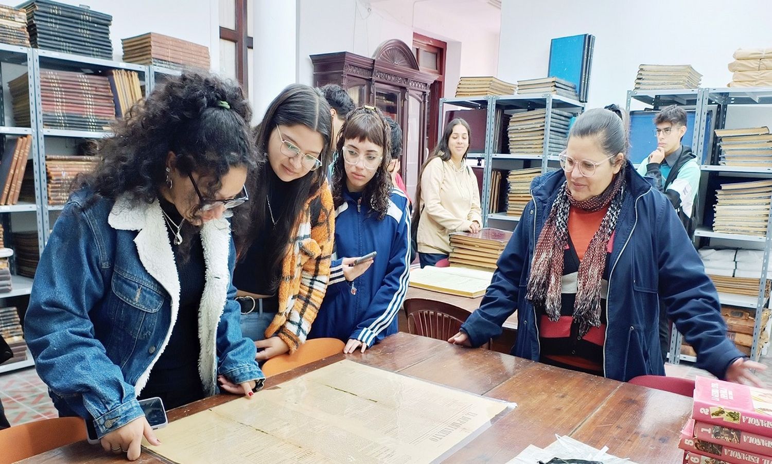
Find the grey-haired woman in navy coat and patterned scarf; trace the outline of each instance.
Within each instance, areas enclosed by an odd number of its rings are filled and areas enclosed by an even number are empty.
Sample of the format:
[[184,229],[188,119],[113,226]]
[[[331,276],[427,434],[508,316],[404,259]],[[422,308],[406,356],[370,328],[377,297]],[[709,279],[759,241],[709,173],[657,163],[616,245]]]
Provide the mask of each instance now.
[[479,347],[518,310],[511,353],[628,381],[665,375],[659,301],[718,378],[759,384],[726,338],[716,288],[670,202],[627,159],[625,124],[588,110],[571,127],[563,171],[533,181],[530,202],[479,310],[449,342]]

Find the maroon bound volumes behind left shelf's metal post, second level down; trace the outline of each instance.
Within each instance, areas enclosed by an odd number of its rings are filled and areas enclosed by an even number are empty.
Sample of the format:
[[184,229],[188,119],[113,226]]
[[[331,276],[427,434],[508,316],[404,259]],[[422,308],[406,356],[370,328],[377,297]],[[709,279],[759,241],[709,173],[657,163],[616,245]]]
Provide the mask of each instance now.
[[[8,83],[16,124],[29,126],[27,75]],[[40,69],[43,127],[69,130],[109,130],[115,102],[106,76]]]

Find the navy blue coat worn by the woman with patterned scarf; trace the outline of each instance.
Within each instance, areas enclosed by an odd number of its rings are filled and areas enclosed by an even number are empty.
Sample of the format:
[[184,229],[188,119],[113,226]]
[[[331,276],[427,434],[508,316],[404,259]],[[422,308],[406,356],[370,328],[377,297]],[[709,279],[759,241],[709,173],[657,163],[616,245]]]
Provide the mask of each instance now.
[[[726,338],[716,287],[668,198],[629,163],[625,176],[610,260],[604,376],[628,381],[665,375],[658,332],[661,298],[669,319],[697,352],[697,367],[723,378],[743,354]],[[533,201],[499,258],[479,310],[461,327],[473,346],[499,336],[501,324],[518,309],[512,354],[539,360],[538,319],[526,298],[527,283],[537,237],[564,182],[562,170],[533,180]]]

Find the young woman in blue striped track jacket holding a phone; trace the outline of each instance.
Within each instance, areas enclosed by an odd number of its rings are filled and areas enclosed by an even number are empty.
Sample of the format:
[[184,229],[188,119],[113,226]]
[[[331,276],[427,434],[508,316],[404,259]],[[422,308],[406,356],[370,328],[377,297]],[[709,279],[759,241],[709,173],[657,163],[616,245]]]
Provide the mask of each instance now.
[[[340,134],[342,156],[333,164],[337,259],[309,337],[336,337],[347,342],[344,353],[364,353],[397,332],[408,291],[410,213],[408,198],[391,185],[391,126],[381,110],[357,108]],[[358,264],[350,257],[371,252],[378,254]]]

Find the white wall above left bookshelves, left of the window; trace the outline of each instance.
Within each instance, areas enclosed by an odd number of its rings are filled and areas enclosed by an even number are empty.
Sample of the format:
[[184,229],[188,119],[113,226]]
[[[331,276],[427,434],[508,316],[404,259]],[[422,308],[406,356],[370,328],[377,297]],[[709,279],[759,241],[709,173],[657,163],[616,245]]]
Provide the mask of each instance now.
[[[159,0],[57,0],[70,5],[90,6],[95,12],[113,15],[110,39],[113,41],[113,58],[123,55],[120,39],[139,36],[145,32],[158,32],[178,39],[188,40],[209,47],[215,69],[219,63],[217,0],[185,0],[185,2],[161,2]],[[3,5],[16,6],[19,2],[0,0]],[[213,7],[214,5],[214,7]],[[215,46],[212,46],[212,43]]]

